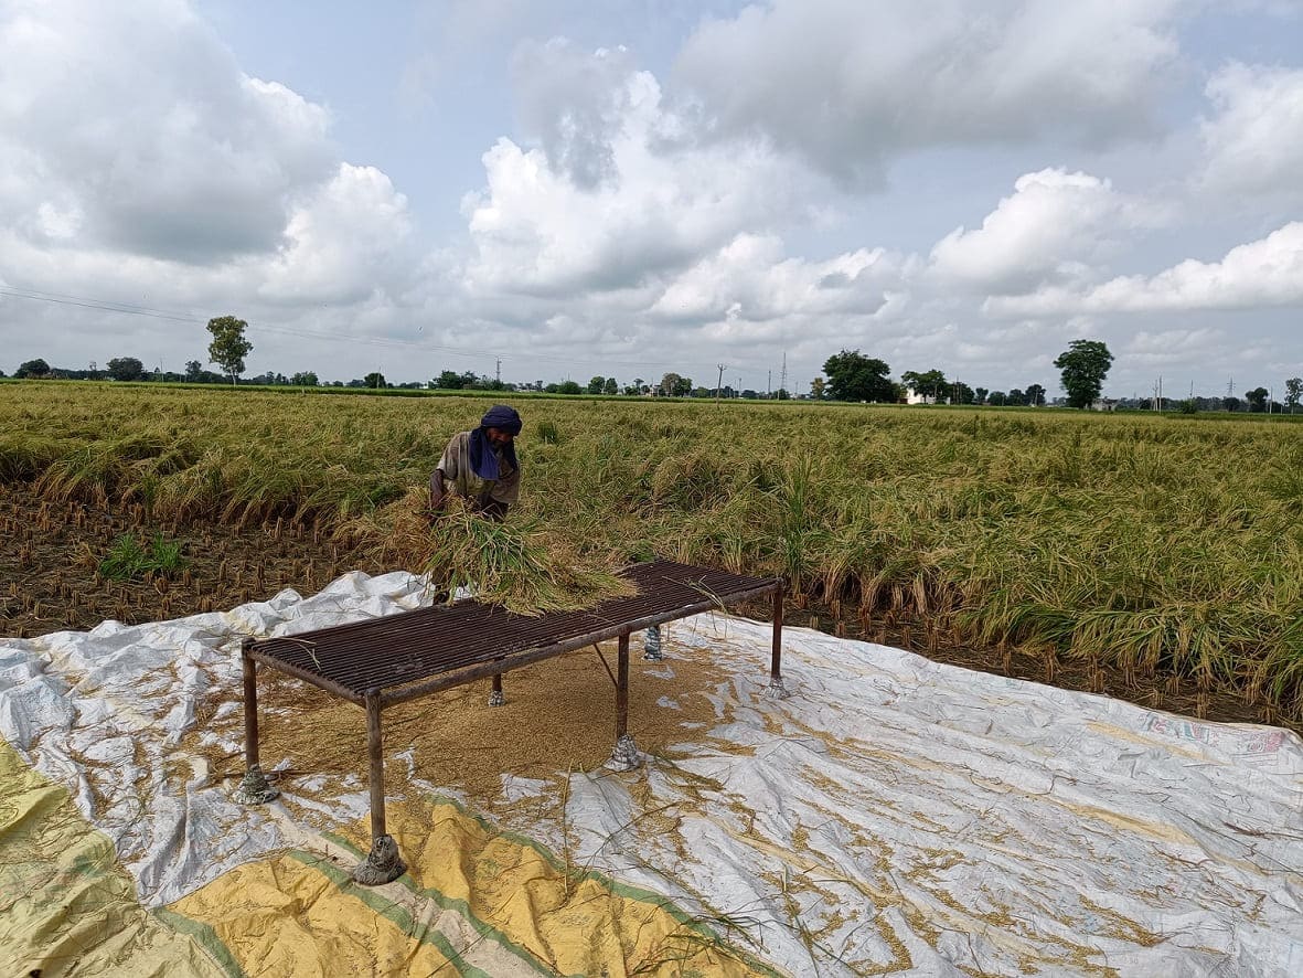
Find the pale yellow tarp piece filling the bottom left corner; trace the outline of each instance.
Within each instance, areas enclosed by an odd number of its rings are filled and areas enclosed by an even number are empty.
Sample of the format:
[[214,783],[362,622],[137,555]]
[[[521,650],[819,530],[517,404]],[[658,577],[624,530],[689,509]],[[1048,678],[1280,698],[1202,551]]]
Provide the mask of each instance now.
[[231,974],[141,906],[112,841],[0,741],[0,975],[33,973]]

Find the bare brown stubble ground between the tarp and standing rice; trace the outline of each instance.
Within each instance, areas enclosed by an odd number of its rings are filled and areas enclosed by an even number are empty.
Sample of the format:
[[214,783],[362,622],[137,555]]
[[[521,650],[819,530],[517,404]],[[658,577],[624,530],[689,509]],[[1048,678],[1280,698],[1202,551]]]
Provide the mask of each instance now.
[[[104,580],[99,562],[113,541],[130,533],[141,544],[162,533],[180,542],[185,567],[168,578]],[[86,631],[102,621],[134,625],[266,600],[292,587],[311,595],[351,570],[383,574],[361,550],[340,546],[313,527],[171,526],[151,520],[141,507],[122,511],[81,503],[51,503],[22,484],[0,485],[0,635],[31,638],[52,631]],[[744,609],[767,618],[765,606]],[[887,627],[838,618],[829,608],[788,604],[788,625],[810,626],[852,639],[906,648],[967,669],[1097,692],[1132,703],[1229,722],[1269,722],[1303,733],[1239,696],[1200,691],[1170,675],[1123,675],[1065,657],[1018,649],[972,648],[926,629]]]

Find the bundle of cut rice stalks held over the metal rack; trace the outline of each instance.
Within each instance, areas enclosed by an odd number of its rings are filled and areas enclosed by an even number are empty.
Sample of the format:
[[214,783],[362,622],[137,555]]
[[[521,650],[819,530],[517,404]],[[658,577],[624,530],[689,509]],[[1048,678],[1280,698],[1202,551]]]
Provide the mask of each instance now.
[[[407,497],[375,514],[373,556],[388,565],[423,574],[435,595],[448,600],[466,588],[477,601],[506,608],[516,614],[572,612],[592,608],[612,597],[636,593],[615,572],[614,559],[594,565],[577,549],[537,520],[512,516],[495,523],[468,510],[460,499],[448,499],[434,526],[426,516],[427,496],[413,489]],[[365,533],[354,522],[348,532]]]

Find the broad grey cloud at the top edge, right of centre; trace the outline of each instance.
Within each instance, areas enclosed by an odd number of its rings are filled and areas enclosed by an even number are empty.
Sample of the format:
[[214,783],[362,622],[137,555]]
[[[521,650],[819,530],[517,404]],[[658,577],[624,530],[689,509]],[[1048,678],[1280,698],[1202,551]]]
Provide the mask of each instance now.
[[843,179],[917,147],[1157,129],[1178,0],[773,0],[710,20],[675,78],[724,134]]

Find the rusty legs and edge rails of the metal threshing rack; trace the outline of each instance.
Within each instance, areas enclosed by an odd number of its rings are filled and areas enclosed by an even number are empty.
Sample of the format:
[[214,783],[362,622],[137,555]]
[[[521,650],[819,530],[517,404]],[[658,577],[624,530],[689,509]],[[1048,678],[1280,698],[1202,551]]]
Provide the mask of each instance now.
[[[386,831],[384,750],[382,729],[384,707],[407,703],[409,700],[427,696],[433,692],[439,692],[456,686],[464,686],[465,683],[474,682],[476,679],[485,677],[493,678],[494,692],[500,696],[503,673],[520,669],[546,659],[554,659],[588,645],[598,645],[601,642],[616,639],[619,657],[615,675],[611,677],[615,681],[616,751],[612,755],[612,762],[609,762],[609,765],[615,769],[628,769],[636,765],[636,762],[629,756],[629,751],[633,751],[636,755],[636,747],[633,747],[633,739],[628,733],[629,636],[635,631],[641,631],[653,625],[663,625],[666,622],[679,621],[702,612],[724,609],[766,595],[773,599],[773,645],[769,668],[769,690],[777,696],[786,696],[787,692],[783,687],[782,678],[783,582],[780,578],[769,579],[762,584],[726,595],[711,595],[708,599],[702,599],[701,601],[688,605],[680,605],[672,610],[658,612],[655,614],[648,614],[623,622],[612,622],[611,625],[598,630],[585,631],[581,635],[568,636],[546,645],[511,652],[502,657],[493,659],[491,661],[459,666],[423,682],[408,682],[405,685],[399,685],[392,691],[369,687],[364,695],[358,695],[356,691],[349,690],[348,687],[334,682],[324,675],[318,675],[309,669],[296,666],[292,662],[285,662],[281,659],[261,652],[258,649],[258,642],[254,639],[245,639],[241,643],[240,649],[244,673],[245,762],[248,767],[245,785],[248,786],[249,784],[254,784],[254,788],[244,788],[242,795],[237,797],[240,797],[240,801],[245,801],[246,803],[258,803],[270,801],[270,798],[276,794],[275,789],[271,789],[266,784],[259,765],[257,689],[257,669],[259,664],[285,673],[287,675],[292,675],[296,679],[302,679],[304,682],[317,686],[326,692],[339,696],[340,699],[357,704],[366,712],[366,747],[371,802],[371,853],[354,870],[353,879],[367,885],[387,883],[392,879],[397,879],[397,876],[405,870],[405,866],[399,858],[396,844]],[[378,626],[392,625],[397,615],[384,615],[370,621],[377,622]],[[305,636],[311,634],[313,632],[304,632],[302,635],[293,638],[305,640]],[[606,669],[609,673],[611,672],[609,665]],[[620,760],[618,762],[618,759]],[[262,793],[257,790],[258,785],[262,786]]]

